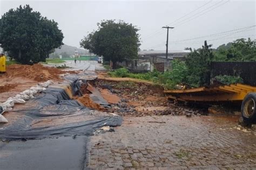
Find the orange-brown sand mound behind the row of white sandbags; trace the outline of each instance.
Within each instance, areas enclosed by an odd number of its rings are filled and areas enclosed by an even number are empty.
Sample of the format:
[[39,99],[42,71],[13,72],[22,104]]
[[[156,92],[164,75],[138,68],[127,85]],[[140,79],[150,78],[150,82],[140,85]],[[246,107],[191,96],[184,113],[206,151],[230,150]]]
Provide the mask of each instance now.
[[44,67],[41,64],[29,65],[10,65],[6,67],[6,77],[26,77],[35,81],[47,81],[47,80],[60,80],[58,74],[63,74],[64,71],[52,68]]

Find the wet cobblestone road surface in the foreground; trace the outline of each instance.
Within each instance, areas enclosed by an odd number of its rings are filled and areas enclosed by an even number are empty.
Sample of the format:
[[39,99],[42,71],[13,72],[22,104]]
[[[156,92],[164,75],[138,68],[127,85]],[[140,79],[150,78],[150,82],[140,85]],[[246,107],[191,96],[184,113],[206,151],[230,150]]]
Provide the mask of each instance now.
[[232,118],[124,117],[91,138],[87,169],[256,169],[255,130]]

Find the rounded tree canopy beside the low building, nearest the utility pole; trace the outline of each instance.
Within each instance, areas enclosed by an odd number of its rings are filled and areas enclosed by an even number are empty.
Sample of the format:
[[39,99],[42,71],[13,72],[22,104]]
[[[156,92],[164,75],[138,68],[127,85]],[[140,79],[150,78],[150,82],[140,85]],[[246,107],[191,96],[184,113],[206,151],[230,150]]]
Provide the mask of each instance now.
[[81,47],[104,56],[104,61],[112,61],[113,66],[117,61],[137,58],[140,42],[136,26],[121,20],[103,20],[97,25],[96,31],[80,41]]

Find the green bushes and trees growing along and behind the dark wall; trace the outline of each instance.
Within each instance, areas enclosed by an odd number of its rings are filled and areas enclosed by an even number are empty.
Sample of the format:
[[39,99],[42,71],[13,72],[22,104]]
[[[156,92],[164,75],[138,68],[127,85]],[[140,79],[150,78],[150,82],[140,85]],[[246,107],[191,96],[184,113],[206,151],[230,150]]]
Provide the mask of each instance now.
[[[130,73],[125,68],[119,68],[109,74],[113,77],[131,77],[162,84],[166,89],[176,89],[178,84],[199,87],[209,86],[211,82],[211,62],[212,61],[254,61],[256,56],[255,40],[239,39],[227,45],[221,45],[215,52],[211,49],[212,45],[204,46],[191,51],[184,61],[173,60],[172,70],[160,73],[157,70],[149,73]],[[236,52],[235,52],[236,51]],[[231,52],[235,52],[231,55]],[[225,54],[225,55],[224,55]],[[254,55],[252,55],[254,54]],[[214,81],[223,84],[242,83],[239,76],[218,75],[213,77]]]

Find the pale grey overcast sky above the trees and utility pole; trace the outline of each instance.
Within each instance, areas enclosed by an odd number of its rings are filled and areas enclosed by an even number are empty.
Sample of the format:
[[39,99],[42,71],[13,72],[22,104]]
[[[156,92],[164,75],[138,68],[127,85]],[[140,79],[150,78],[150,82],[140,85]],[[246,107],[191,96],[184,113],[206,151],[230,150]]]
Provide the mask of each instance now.
[[[0,0],[1,16],[11,8],[29,4],[54,19],[64,44],[79,47],[87,32],[103,19],[121,19],[140,28],[141,49],[198,48],[204,40],[217,48],[238,38],[255,39],[255,1],[11,1]],[[250,27],[254,26],[254,27]],[[234,30],[234,31],[233,31]],[[230,31],[230,32],[228,32]],[[221,33],[221,34],[218,34]],[[210,36],[209,36],[210,35]],[[208,36],[199,38],[202,36]],[[188,40],[190,39],[190,40]],[[175,42],[173,42],[175,41]]]

